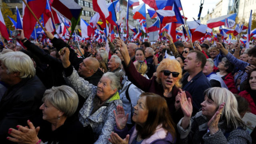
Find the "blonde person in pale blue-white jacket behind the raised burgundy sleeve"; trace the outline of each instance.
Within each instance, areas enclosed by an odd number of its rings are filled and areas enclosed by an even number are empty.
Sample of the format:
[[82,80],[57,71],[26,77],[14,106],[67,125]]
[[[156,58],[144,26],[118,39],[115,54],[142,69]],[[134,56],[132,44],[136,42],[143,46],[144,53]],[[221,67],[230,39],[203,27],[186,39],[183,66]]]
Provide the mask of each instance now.
[[[147,64],[145,62],[136,61],[134,62],[134,66],[142,76],[148,78],[145,74],[147,72]],[[126,80],[122,90],[120,91],[120,99],[122,100],[124,111],[126,114],[129,114],[127,120],[127,126],[129,129],[134,126],[134,123],[132,121],[132,114],[134,112],[134,106],[136,106],[142,92],[142,90],[137,88],[128,79]]]

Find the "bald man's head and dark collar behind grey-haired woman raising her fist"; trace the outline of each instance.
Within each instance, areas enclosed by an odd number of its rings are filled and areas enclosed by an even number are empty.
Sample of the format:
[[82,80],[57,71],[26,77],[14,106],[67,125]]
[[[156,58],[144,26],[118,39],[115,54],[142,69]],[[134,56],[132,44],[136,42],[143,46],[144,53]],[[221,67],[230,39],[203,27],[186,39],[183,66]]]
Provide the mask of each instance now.
[[100,64],[96,58],[85,58],[83,62],[79,64],[78,74],[87,80],[90,84],[97,86],[100,78],[104,74],[100,69]]

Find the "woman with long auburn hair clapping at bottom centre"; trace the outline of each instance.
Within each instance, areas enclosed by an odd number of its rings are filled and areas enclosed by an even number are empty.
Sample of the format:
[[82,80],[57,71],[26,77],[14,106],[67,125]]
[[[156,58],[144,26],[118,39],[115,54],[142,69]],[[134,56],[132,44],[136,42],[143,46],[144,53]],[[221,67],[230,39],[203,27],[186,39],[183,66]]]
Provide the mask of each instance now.
[[[118,106],[115,132],[110,135],[112,144],[174,144],[176,132],[170,117],[168,106],[163,97],[153,93],[142,93],[132,120],[135,126],[128,132],[122,106]],[[130,138],[129,135],[130,134]],[[122,139],[124,138],[124,139]]]

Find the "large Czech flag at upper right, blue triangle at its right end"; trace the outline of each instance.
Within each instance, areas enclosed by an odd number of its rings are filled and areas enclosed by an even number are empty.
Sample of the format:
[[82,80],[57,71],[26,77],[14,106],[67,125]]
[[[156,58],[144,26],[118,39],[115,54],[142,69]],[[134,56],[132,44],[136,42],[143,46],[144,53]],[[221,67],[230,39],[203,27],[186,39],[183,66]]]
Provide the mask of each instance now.
[[225,20],[227,19],[231,19],[231,20],[235,20],[236,19],[236,13],[234,14],[228,14],[225,16],[220,16],[218,18],[213,18],[207,21],[207,26],[209,28],[215,28],[218,26],[222,26],[225,25]]

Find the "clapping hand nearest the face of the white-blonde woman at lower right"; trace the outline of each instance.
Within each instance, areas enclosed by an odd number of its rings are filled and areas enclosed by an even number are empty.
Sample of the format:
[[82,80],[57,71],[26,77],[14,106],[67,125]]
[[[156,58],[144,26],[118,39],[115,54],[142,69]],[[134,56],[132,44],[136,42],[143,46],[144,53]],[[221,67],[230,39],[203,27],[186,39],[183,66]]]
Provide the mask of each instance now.
[[220,104],[219,109],[217,110],[217,112],[215,112],[214,116],[212,116],[212,118],[208,122],[208,128],[210,130],[210,134],[214,134],[214,133],[218,132],[218,130],[219,130],[218,123],[219,123],[220,116],[222,114],[224,105],[225,105],[225,102]]

